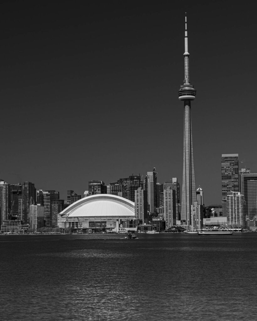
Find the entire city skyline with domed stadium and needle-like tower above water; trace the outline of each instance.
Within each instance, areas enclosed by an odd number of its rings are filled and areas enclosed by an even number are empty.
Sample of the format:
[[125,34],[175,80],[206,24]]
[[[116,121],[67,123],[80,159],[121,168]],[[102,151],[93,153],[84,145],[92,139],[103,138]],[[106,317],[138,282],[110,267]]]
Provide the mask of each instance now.
[[[219,203],[204,202],[204,192],[208,191],[211,184],[205,188],[195,184],[192,132],[199,131],[199,128],[193,129],[191,120],[191,101],[195,100],[196,90],[189,77],[186,13],[184,19],[184,80],[178,91],[179,100],[184,103],[182,181],[179,181],[179,173],[174,169],[171,170],[174,177],[167,177],[164,182],[159,181],[154,166],[153,169],[145,169],[143,174],[136,175],[124,170],[122,178],[109,184],[99,180],[100,174],[97,175],[84,186],[83,195],[78,193],[76,186],[66,186],[74,190],[67,189],[67,195],[62,199],[60,192],[51,186],[49,190],[44,190],[30,181],[10,184],[3,177],[0,179],[1,233],[103,233],[120,232],[120,228],[133,228],[140,232],[196,232],[206,227],[256,231],[257,173],[239,166],[244,162],[239,160],[238,153],[221,155],[219,175],[222,197]],[[193,110],[192,113],[194,112],[197,111]],[[182,136],[182,130],[180,132]],[[85,144],[87,143],[86,141]],[[125,154],[123,156],[126,158]],[[115,162],[113,166],[115,167]],[[106,168],[104,161],[102,167]],[[7,176],[12,179],[12,176],[19,177],[15,173],[8,173]],[[93,195],[96,196],[92,198]],[[131,204],[126,204],[121,198]],[[101,203],[103,200],[106,203]],[[97,205],[97,201],[101,206]],[[121,208],[109,208],[106,205],[108,202],[120,204]],[[88,203],[95,206],[91,208]],[[130,206],[130,212],[124,215],[122,206]]]

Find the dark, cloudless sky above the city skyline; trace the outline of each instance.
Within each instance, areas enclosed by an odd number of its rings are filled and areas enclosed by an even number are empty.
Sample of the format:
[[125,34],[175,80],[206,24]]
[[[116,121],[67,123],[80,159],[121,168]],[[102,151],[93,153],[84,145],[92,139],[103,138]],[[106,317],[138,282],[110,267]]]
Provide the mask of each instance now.
[[[221,203],[221,154],[257,171],[256,18],[234,1],[8,1],[0,177],[83,194],[154,167],[182,185],[184,13],[196,186]],[[17,174],[17,175],[10,175]]]

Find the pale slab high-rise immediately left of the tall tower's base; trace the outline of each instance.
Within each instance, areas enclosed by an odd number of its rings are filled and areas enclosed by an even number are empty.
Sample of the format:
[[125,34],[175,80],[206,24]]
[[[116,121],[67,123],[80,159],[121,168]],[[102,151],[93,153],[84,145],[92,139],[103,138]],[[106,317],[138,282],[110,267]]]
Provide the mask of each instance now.
[[165,229],[168,230],[176,225],[176,193],[171,187],[165,188],[164,192],[164,220]]

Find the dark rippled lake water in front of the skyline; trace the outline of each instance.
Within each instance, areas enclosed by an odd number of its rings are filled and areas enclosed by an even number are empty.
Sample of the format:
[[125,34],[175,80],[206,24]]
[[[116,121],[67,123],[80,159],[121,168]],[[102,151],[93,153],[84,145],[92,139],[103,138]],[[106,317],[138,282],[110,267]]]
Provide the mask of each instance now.
[[256,320],[257,233],[0,236],[0,319]]

